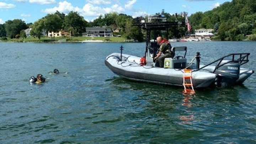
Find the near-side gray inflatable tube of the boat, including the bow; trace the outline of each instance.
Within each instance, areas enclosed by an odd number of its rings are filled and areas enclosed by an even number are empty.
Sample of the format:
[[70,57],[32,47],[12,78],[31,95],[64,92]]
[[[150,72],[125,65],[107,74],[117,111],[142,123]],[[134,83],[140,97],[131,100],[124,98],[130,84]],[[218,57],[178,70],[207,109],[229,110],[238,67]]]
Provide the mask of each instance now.
[[[175,69],[155,68],[152,66],[140,66],[140,57],[123,54],[120,61],[120,54],[113,53],[106,60],[106,66],[113,73],[130,80],[153,82],[158,84],[167,84],[183,86],[183,71]],[[192,73],[192,82],[194,87],[209,87],[215,82],[216,74],[196,71]]]

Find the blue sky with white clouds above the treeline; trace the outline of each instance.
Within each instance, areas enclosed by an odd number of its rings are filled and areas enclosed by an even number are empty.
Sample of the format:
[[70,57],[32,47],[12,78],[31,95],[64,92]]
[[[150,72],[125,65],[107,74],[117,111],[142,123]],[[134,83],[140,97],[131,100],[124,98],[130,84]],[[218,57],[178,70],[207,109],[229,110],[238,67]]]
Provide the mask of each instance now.
[[162,9],[170,14],[208,11],[231,0],[0,0],[0,24],[7,20],[22,19],[26,23],[60,11],[77,11],[86,21],[100,15],[118,12],[133,17],[152,15]]

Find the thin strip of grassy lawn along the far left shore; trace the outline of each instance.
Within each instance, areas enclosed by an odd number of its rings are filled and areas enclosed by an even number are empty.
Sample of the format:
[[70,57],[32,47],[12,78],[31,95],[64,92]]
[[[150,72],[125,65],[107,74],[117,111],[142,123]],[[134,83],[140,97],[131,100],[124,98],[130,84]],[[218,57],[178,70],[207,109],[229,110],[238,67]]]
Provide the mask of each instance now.
[[[66,42],[80,42],[80,41],[87,41],[87,40],[100,40],[106,42],[124,42],[125,38],[123,37],[55,37],[53,41],[66,41]],[[41,37],[41,39],[34,38],[34,37],[27,37],[27,38],[8,38],[4,42],[53,42],[52,38],[50,37]]]

